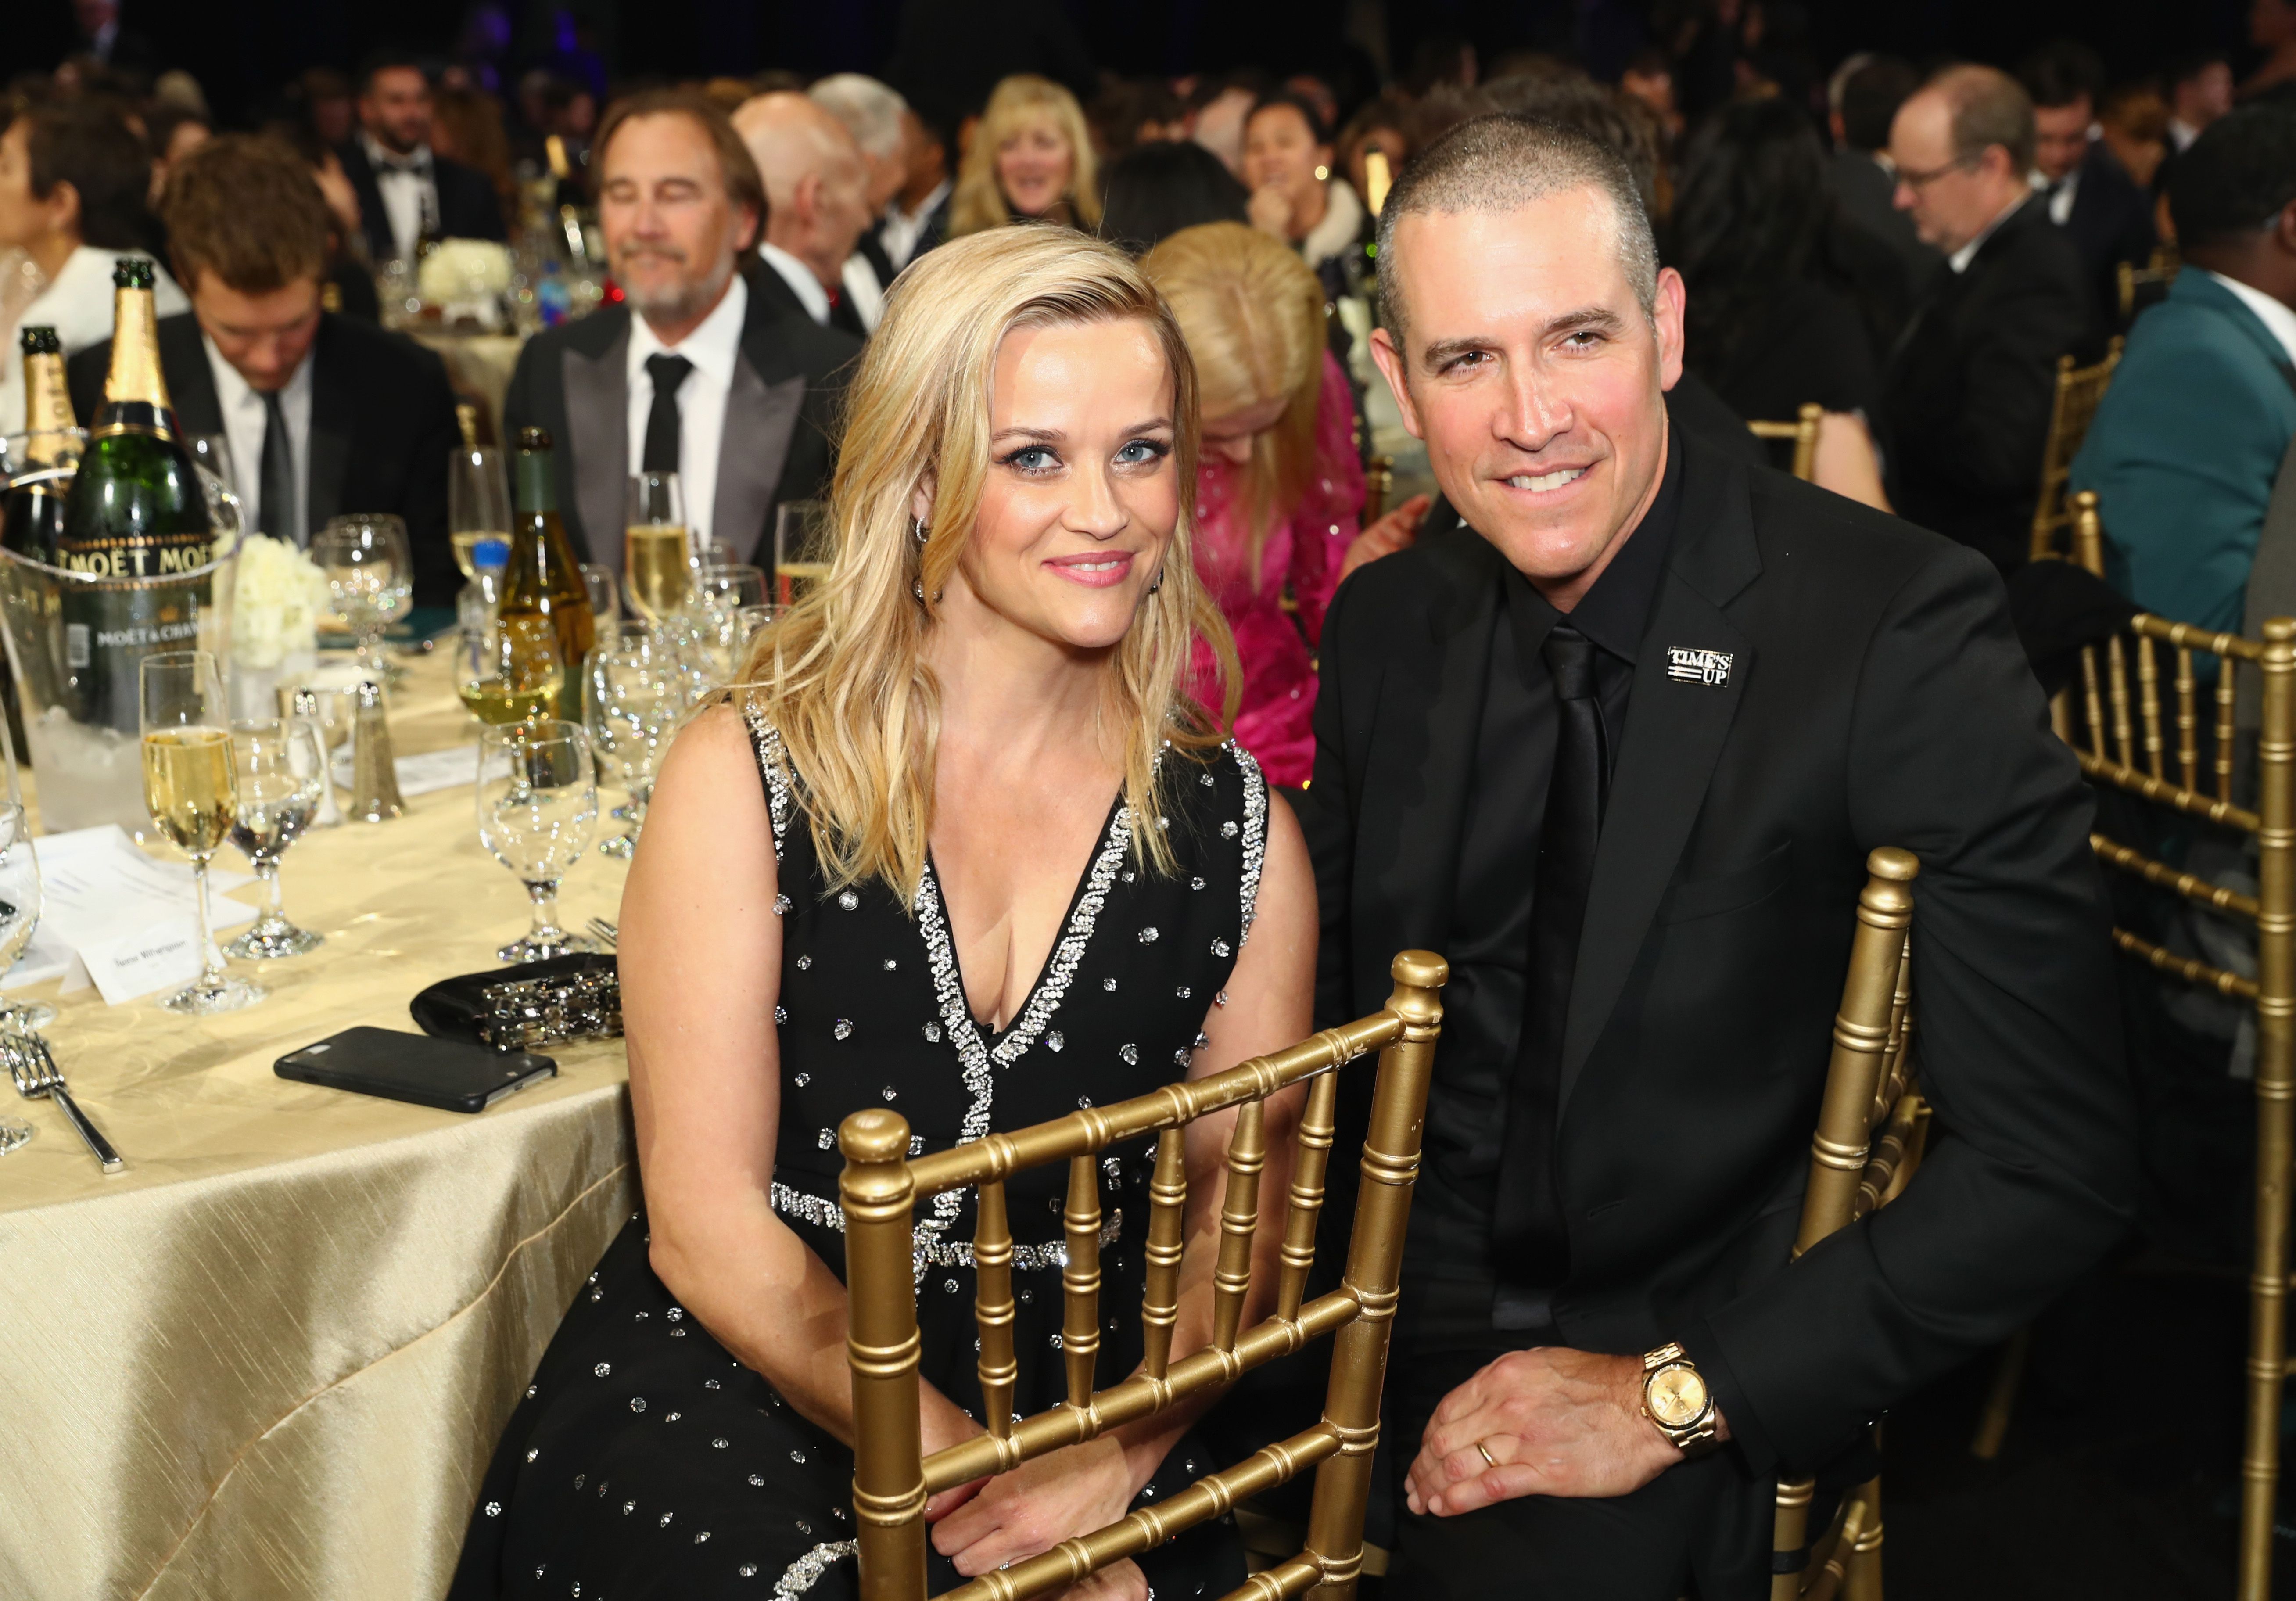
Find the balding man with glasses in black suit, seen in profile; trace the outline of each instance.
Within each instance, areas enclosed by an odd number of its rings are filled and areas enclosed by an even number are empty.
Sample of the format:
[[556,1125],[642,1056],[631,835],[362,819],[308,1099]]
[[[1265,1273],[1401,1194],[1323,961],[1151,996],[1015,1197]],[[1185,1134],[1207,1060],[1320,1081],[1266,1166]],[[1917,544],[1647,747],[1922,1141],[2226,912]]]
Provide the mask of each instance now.
[[1890,124],[1896,204],[1945,271],[1883,372],[1899,517],[2009,572],[2032,542],[2057,358],[2089,333],[2080,253],[2034,198],[2032,101],[1991,67],[1949,67]]

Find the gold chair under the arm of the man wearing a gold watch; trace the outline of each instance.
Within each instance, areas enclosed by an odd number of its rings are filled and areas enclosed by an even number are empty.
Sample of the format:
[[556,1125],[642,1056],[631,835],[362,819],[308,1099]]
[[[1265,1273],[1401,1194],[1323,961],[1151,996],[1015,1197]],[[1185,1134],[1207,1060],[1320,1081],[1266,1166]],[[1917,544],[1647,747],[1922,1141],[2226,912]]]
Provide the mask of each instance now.
[[[1913,880],[1910,850],[1867,857],[1851,972],[1835,1013],[1835,1054],[1809,1142],[1800,1256],[1903,1192],[1929,1139],[1929,1103],[1913,1084]],[[1880,1601],[1880,1479],[1851,1488],[1832,1523],[1809,1539],[1816,1479],[1779,1479],[1770,1601]]]

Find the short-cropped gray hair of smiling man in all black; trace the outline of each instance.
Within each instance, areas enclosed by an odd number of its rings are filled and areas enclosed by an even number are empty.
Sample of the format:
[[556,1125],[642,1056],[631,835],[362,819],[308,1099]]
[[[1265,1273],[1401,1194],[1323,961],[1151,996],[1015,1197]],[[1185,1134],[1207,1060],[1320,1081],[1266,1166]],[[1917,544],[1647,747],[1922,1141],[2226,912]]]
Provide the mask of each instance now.
[[1573,188],[1596,188],[1619,223],[1619,266],[1649,317],[1658,305],[1658,239],[1635,175],[1609,145],[1543,117],[1476,117],[1403,168],[1380,207],[1380,319],[1403,340],[1396,225],[1435,211],[1513,211]]

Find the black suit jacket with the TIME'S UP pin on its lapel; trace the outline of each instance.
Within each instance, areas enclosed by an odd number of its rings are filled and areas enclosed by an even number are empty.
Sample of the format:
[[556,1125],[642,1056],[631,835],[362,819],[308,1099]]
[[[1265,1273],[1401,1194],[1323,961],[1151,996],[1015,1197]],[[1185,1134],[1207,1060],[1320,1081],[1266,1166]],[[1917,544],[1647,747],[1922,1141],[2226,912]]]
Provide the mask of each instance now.
[[[1768,1571],[1768,1477],[1848,1447],[2119,1238],[2133,1112],[2094,806],[2000,577],[1697,436],[1683,473],[1570,992],[1554,1316],[1584,1351],[1683,1341],[1731,1422],[1731,1523],[1759,1534],[1733,1560]],[[1398,949],[1446,944],[1502,560],[1467,528],[1421,537],[1325,620],[1300,802],[1318,1024],[1384,1004]],[[1727,682],[1671,680],[1669,645],[1729,652]],[[1876,845],[1922,859],[1915,1041],[1952,1137],[1789,1261]]]

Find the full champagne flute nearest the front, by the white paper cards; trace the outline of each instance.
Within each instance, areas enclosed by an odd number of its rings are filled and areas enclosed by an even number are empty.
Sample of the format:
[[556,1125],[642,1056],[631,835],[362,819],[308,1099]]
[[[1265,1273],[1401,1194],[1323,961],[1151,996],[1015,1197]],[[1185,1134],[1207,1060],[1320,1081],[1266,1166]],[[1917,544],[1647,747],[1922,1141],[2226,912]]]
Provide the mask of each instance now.
[[207,916],[207,861],[239,813],[223,675],[207,650],[161,650],[142,659],[140,675],[145,806],[154,827],[191,857],[200,912],[200,976],[161,1006],[193,1015],[239,1011],[264,992],[246,979],[225,976]]

